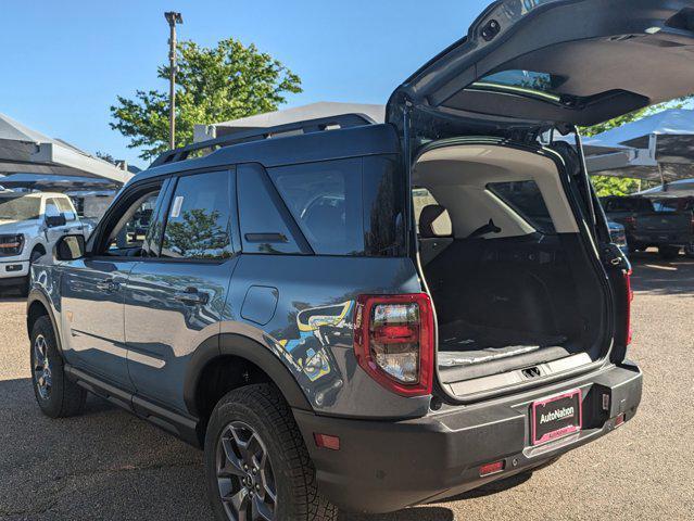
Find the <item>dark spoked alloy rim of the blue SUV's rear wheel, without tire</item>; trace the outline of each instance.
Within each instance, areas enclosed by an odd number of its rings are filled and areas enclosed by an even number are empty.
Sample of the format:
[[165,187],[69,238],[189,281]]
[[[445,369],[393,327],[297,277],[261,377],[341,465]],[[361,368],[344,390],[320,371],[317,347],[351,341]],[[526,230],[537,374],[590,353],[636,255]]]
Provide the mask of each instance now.
[[217,442],[217,485],[232,521],[274,521],[277,486],[267,448],[247,423],[234,421]]

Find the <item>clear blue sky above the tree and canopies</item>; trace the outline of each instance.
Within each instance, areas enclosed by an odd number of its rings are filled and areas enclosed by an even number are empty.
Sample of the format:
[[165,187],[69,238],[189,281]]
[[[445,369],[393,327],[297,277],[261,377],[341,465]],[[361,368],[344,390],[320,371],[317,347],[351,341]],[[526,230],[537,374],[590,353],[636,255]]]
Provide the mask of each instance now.
[[184,14],[179,39],[213,46],[234,36],[283,62],[303,80],[304,92],[288,100],[295,106],[384,103],[411,73],[464,36],[490,1],[3,0],[0,112],[144,167],[109,127],[109,107],[118,94],[166,89],[156,78],[167,59],[164,11]]

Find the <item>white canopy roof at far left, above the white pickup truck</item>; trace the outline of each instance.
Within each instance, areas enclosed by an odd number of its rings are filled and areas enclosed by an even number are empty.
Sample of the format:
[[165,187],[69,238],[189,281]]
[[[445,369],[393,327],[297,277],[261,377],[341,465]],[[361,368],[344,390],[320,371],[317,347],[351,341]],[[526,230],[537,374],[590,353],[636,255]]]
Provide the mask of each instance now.
[[0,175],[21,173],[96,177],[119,185],[133,177],[127,170],[0,114]]

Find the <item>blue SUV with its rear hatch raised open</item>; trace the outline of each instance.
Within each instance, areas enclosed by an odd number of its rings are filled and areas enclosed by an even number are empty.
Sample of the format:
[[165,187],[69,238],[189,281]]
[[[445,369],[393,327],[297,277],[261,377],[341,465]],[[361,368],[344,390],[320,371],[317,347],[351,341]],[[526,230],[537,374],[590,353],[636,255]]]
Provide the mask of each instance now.
[[163,154],[34,266],[40,408],[89,391],[204,447],[220,520],[452,497],[630,421],[630,266],[552,137],[689,93],[691,8],[500,1],[384,124]]

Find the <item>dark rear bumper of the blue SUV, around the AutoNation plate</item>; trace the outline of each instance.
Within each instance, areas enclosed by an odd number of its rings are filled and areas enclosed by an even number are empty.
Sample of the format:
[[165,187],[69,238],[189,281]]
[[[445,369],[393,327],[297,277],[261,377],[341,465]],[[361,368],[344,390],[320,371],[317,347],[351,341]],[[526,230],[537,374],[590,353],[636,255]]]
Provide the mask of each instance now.
[[[532,402],[577,387],[583,396],[583,430],[530,446]],[[416,420],[362,421],[300,410],[294,416],[321,493],[345,510],[381,513],[541,467],[613,431],[621,415],[630,420],[641,402],[641,390],[642,373],[636,366],[609,366],[521,396],[444,408]],[[340,449],[318,448],[314,433],[339,436]],[[480,466],[502,459],[504,471],[480,478]]]

